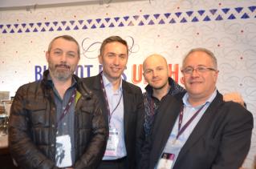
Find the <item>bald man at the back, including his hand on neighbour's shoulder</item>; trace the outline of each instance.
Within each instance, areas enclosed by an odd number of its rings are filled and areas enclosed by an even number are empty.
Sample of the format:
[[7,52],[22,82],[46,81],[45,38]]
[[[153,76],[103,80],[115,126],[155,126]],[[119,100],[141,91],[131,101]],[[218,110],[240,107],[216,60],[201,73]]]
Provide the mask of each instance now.
[[[169,68],[166,59],[161,54],[151,54],[143,62],[144,79],[148,82],[144,92],[144,131],[148,135],[154,117],[157,113],[157,108],[160,106],[166,95],[176,95],[185,91],[173,78],[169,77]],[[234,101],[244,106],[242,96],[236,92],[224,95],[223,99]]]

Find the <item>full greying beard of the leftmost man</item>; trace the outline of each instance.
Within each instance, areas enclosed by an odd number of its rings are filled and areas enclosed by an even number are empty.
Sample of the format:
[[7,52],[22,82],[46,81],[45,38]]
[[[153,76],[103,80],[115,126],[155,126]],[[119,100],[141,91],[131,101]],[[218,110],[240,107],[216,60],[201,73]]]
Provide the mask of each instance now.
[[75,67],[67,65],[66,62],[61,62],[60,64],[49,62],[49,70],[54,78],[64,82],[74,74]]

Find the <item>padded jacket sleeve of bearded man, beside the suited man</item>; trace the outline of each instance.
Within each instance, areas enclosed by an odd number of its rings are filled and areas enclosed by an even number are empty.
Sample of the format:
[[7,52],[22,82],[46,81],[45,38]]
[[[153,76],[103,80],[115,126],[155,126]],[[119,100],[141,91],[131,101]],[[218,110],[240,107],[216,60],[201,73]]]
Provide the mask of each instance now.
[[91,141],[80,159],[75,162],[75,169],[97,168],[107,146],[108,126],[104,120],[98,99],[95,100]]

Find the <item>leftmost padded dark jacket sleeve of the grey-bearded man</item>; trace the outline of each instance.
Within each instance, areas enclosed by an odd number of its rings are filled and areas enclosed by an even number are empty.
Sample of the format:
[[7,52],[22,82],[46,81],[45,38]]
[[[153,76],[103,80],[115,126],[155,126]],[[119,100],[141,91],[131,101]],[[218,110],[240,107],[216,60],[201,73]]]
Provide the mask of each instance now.
[[58,168],[30,139],[30,122],[26,114],[26,88],[20,87],[10,110],[8,139],[10,155],[22,168]]

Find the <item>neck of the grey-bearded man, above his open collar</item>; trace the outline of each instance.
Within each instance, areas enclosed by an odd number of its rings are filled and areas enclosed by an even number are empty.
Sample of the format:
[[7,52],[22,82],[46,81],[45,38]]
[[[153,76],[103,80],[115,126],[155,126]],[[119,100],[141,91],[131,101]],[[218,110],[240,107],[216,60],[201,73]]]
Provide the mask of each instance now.
[[59,93],[59,96],[61,99],[63,99],[65,92],[69,87],[71,87],[71,78],[69,78],[67,81],[59,81],[58,79],[52,78],[52,82],[55,84],[55,88]]

